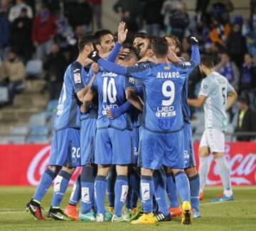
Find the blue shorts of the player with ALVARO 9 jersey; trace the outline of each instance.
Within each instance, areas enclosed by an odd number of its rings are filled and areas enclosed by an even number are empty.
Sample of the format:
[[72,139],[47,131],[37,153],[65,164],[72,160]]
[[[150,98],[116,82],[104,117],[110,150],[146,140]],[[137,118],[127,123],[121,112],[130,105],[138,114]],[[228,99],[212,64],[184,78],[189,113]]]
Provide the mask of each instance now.
[[176,133],[154,133],[145,128],[140,140],[142,167],[161,169],[164,164],[171,169],[184,169],[183,130]]

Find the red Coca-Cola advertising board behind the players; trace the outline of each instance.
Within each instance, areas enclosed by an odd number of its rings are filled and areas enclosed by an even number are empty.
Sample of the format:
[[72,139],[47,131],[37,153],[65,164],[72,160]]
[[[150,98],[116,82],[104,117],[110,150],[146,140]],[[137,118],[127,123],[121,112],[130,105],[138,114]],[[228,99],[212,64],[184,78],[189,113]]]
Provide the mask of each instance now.
[[[198,143],[194,144],[198,163]],[[233,185],[256,185],[256,142],[225,145]],[[50,145],[0,145],[0,186],[36,186],[46,169]],[[209,157],[208,185],[220,185],[218,168]],[[73,184],[80,169],[70,181]]]

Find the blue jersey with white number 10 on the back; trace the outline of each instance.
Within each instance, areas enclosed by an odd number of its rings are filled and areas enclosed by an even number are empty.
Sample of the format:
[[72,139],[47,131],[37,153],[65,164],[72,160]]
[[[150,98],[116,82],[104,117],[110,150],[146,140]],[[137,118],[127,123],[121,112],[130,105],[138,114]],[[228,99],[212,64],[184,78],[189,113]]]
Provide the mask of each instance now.
[[117,130],[132,129],[129,113],[110,120],[107,110],[118,108],[126,101],[125,89],[132,87],[129,78],[112,72],[99,72],[92,84],[92,90],[97,92],[98,117],[97,129],[115,128]]

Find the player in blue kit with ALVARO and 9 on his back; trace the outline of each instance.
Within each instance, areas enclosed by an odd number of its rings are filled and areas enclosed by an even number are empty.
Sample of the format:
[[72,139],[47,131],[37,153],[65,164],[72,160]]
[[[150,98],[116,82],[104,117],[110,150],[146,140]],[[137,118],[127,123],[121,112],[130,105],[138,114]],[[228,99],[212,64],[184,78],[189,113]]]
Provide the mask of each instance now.
[[191,203],[188,178],[184,168],[183,113],[181,91],[187,73],[199,64],[199,50],[196,38],[192,46],[192,62],[170,64],[167,59],[168,44],[164,38],[154,38],[152,50],[156,64],[120,67],[107,62],[93,52],[90,58],[102,67],[117,74],[129,74],[142,79],[145,86],[145,125],[142,130],[142,177],[141,192],[144,214],[132,224],[154,224],[152,213],[154,195],[153,172],[162,164],[173,169],[178,193],[183,201],[182,224],[191,224]]

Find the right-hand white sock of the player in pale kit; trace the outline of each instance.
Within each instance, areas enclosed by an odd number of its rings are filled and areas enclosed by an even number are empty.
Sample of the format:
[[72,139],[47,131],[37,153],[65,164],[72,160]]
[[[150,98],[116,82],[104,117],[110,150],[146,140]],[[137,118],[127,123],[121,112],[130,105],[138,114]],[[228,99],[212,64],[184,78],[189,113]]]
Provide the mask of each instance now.
[[225,159],[225,157],[215,159],[215,162],[220,171],[220,179],[223,183],[224,195],[232,196],[233,191],[232,191],[232,187],[231,187],[230,167],[228,166],[228,162]]

